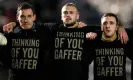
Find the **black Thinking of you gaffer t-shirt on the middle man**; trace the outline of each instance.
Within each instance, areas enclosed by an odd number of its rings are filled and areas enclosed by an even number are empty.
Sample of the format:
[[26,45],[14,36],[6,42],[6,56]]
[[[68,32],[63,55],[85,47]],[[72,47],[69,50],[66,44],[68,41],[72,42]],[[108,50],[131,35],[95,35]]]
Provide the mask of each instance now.
[[[52,80],[88,80],[88,59],[84,47],[89,27],[53,27]],[[88,53],[87,53],[88,54]]]

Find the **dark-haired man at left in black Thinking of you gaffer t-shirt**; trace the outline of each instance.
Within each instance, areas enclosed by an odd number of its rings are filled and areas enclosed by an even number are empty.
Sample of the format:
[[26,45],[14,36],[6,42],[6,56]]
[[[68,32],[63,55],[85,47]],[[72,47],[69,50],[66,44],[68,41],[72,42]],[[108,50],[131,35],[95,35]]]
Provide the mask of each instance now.
[[[36,14],[32,5],[21,3],[17,9],[19,26],[7,37],[7,64],[9,80],[49,80],[50,32],[34,23]],[[6,54],[6,53],[5,53]]]

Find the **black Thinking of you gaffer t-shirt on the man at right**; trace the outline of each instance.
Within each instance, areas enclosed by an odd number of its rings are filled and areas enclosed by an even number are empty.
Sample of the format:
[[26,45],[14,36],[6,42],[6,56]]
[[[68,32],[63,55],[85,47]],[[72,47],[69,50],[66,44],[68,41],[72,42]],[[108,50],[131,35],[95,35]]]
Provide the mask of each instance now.
[[128,45],[121,44],[116,39],[113,42],[101,40],[101,33],[96,40],[88,42],[92,45],[94,60],[94,80],[126,80],[125,64],[128,54]]

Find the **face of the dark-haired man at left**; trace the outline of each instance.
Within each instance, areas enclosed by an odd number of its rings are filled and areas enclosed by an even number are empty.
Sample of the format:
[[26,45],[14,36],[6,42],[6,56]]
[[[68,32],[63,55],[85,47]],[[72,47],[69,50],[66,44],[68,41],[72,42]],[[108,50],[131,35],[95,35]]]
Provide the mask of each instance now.
[[36,15],[33,14],[32,9],[22,9],[18,12],[17,20],[23,29],[32,28]]

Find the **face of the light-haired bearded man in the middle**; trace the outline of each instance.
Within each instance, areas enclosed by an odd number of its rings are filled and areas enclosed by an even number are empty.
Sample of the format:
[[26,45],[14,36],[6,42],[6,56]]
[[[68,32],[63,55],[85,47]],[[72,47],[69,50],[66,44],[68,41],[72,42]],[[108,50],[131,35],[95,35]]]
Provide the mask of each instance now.
[[79,13],[74,6],[64,6],[61,11],[64,24],[75,23],[79,19]]

